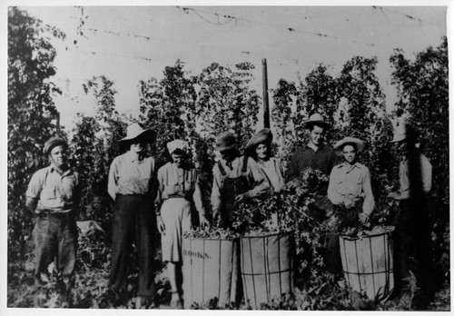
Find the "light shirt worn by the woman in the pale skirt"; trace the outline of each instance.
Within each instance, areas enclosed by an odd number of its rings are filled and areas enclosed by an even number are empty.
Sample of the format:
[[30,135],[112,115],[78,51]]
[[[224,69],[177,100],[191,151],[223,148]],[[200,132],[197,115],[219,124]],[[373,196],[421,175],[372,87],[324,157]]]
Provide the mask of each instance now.
[[204,214],[202,193],[198,181],[199,176],[195,168],[178,167],[176,163],[164,164],[158,170],[159,185],[156,205],[159,207],[164,200],[172,197],[187,198],[192,196],[195,208],[199,213]]

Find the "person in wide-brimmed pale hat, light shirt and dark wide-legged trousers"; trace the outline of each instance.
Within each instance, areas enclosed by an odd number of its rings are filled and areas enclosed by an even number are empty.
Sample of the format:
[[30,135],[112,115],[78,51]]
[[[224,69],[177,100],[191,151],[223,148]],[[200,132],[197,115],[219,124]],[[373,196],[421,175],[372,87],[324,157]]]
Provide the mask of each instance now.
[[132,242],[135,240],[139,265],[138,300],[136,305],[153,308],[154,267],[153,232],[156,229],[153,187],[154,159],[147,155],[146,145],[155,133],[138,123],[127,127],[119,143],[129,151],[115,157],[109,171],[108,193],[114,199],[112,225],[112,266],[109,283],[117,298],[126,299],[127,270]]

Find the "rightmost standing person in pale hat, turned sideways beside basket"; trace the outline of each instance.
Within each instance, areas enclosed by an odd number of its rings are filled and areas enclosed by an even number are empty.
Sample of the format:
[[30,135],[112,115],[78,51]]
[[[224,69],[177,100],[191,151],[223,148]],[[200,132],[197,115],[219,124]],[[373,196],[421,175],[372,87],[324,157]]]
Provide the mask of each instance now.
[[[417,134],[407,123],[400,123],[391,143],[397,143],[401,154],[399,168],[400,190],[388,197],[400,201],[395,219],[395,274],[397,288],[402,289],[410,277],[410,255],[416,263],[415,275],[421,291],[418,303],[423,307],[433,294],[430,224],[426,210],[426,195],[432,185],[432,165],[416,147]],[[407,279],[408,280],[408,279]]]

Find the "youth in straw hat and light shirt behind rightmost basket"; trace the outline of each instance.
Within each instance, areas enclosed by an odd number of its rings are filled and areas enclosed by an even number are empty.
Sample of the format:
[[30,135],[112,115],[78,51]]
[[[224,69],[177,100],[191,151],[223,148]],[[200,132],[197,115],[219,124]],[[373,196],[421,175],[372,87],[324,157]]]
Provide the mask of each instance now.
[[375,205],[369,169],[358,163],[358,154],[364,148],[365,143],[354,137],[345,137],[334,145],[334,150],[343,156],[344,163],[332,168],[328,186],[328,198],[335,205],[334,216],[338,220],[328,246],[328,268],[332,273],[341,272],[337,233],[347,226],[368,222]]

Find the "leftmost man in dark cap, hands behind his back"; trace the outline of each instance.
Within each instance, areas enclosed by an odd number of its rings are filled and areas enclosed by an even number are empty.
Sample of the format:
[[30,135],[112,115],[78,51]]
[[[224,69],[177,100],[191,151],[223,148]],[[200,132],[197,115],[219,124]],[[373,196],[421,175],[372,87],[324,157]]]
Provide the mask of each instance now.
[[[78,173],[68,166],[68,143],[52,137],[44,143],[50,165],[38,170],[28,184],[25,205],[35,222],[35,278],[42,281],[48,266],[55,262],[57,272],[74,272],[77,245],[75,216],[80,196]],[[71,285],[71,282],[69,283]],[[61,284],[64,286],[64,282]],[[62,290],[68,290],[66,288]]]

